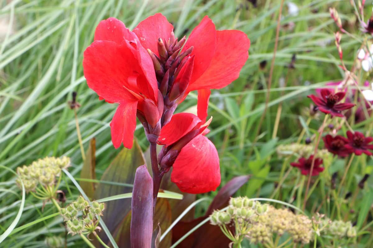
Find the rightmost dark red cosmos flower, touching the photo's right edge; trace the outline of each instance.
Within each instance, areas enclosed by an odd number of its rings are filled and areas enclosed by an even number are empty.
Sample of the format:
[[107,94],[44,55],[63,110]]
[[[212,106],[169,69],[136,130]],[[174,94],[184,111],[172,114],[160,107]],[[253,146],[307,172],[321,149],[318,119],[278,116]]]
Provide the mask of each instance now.
[[366,155],[372,155],[373,144],[369,144],[373,141],[372,137],[365,137],[363,133],[347,131],[348,142],[345,145],[345,149],[351,154],[361,155],[365,153]]

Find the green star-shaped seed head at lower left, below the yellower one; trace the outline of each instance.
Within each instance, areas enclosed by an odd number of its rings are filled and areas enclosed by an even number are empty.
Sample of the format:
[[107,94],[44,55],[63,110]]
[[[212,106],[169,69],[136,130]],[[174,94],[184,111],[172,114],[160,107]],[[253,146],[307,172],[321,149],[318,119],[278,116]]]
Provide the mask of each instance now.
[[103,215],[102,212],[104,209],[104,203],[92,202],[90,206],[82,196],[79,196],[75,202],[62,208],[60,213],[66,222],[68,232],[72,235],[82,233],[94,233],[96,235],[96,230],[100,230],[98,227],[98,218]]

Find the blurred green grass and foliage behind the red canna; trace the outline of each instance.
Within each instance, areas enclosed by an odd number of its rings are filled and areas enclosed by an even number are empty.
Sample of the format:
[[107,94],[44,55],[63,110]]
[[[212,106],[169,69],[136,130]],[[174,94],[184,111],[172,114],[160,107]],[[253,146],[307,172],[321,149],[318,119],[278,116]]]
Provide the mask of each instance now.
[[[256,6],[251,2],[257,2]],[[335,7],[338,10],[342,22],[351,33],[358,32],[359,28],[349,1],[293,1],[299,7],[296,15],[289,13],[288,5],[285,4],[269,109],[263,125],[259,126],[266,101],[279,2],[0,1],[0,21],[4,23],[2,25],[10,23],[10,27],[4,29],[0,36],[0,164],[15,170],[41,157],[66,155],[73,164],[69,171],[79,181],[82,158],[74,112],[67,104],[71,100],[71,92],[76,91],[77,101],[81,104],[77,113],[84,147],[88,149],[90,139],[95,137],[96,173],[100,179],[120,149],[114,149],[110,139],[109,123],[116,106],[98,101],[97,95],[88,88],[83,77],[83,51],[93,41],[98,22],[116,17],[132,29],[147,16],[161,12],[174,24],[175,35],[181,38],[188,35],[204,15],[209,15],[217,29],[239,29],[247,33],[251,40],[249,59],[239,79],[222,90],[213,90],[211,95],[209,115],[214,118],[210,125],[211,132],[207,136],[219,151],[222,186],[236,175],[253,174],[238,194],[248,197],[271,196],[283,167],[283,158],[274,155],[275,147],[297,141],[306,119],[302,108],[310,104],[305,96],[325,82],[338,81],[344,76],[338,67],[339,57],[333,35],[336,27],[328,8]],[[369,19],[372,6],[370,3],[366,5],[365,19]],[[342,39],[341,44],[345,64],[351,65],[361,44],[354,39]],[[229,56],[229,51],[226,52]],[[293,55],[294,68],[290,68]],[[196,95],[190,95],[194,99],[189,97],[178,107],[178,112],[195,106]],[[278,132],[273,135],[280,103],[282,115]],[[356,128],[365,130],[369,122],[371,119],[358,124]],[[306,136],[316,133],[319,125],[320,121],[312,120],[310,128],[306,128]],[[135,136],[145,151],[147,140],[140,124]],[[349,176],[352,189],[364,173],[372,171],[372,165],[366,161],[364,163],[364,169],[359,168],[355,170],[356,174]],[[336,166],[343,166],[343,163]],[[289,178],[294,180],[284,184],[278,196],[280,200],[292,200],[290,197],[294,181],[299,180],[297,175],[296,171],[291,171]],[[0,170],[0,228],[3,231],[14,220],[21,203],[21,194],[14,180],[14,174]],[[62,187],[68,190],[70,200],[79,194],[66,178]],[[372,195],[372,191],[369,192]],[[213,197],[216,193],[211,192],[208,196]],[[318,197],[317,193],[314,194],[316,196],[311,196],[311,199]],[[196,215],[204,215],[208,204],[198,204]],[[315,204],[319,202],[315,200]],[[41,211],[42,205],[32,196],[27,196],[18,226],[55,212],[50,203],[46,203]],[[352,207],[356,210],[363,208],[359,204]],[[43,247],[46,236],[64,230],[62,218],[48,219],[16,235],[10,235],[4,241],[4,247],[25,247],[25,244],[27,247]],[[369,238],[369,235],[364,236],[361,247],[364,244],[369,247]],[[70,236],[69,242],[78,245],[81,240]]]

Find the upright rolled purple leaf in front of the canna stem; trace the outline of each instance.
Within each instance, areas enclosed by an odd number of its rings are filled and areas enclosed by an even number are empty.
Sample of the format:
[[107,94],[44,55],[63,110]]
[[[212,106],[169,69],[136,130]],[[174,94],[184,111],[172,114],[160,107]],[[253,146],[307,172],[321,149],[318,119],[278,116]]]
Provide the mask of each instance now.
[[151,248],[153,234],[153,179],[146,165],[136,170],[131,203],[131,247]]

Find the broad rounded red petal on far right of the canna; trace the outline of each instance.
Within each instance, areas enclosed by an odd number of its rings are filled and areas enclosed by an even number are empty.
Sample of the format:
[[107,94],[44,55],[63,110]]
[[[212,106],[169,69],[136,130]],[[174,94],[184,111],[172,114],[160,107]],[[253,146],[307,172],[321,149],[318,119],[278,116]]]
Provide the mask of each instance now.
[[223,88],[232,83],[238,78],[239,72],[249,56],[249,48],[250,40],[244,32],[239,30],[216,31],[216,49],[211,64],[201,77],[195,82],[191,81],[188,90]]

